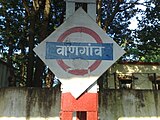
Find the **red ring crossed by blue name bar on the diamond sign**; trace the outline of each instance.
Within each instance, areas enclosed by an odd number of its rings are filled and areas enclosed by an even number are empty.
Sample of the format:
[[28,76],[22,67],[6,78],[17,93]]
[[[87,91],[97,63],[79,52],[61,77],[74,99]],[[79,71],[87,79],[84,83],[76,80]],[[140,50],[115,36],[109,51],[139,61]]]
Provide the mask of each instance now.
[[[93,42],[68,41],[69,35],[74,33],[84,33],[90,36]],[[94,71],[102,60],[113,60],[113,43],[103,43],[99,35],[89,28],[73,27],[61,34],[57,42],[46,42],[46,59],[57,59],[64,71],[82,76]],[[87,61],[90,61],[90,64],[87,64]]]

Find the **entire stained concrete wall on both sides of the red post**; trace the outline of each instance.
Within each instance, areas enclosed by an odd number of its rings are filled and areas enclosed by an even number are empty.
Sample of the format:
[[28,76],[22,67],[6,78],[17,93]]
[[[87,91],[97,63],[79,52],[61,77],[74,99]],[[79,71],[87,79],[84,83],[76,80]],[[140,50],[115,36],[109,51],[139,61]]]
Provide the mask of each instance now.
[[[59,120],[59,112],[59,89],[0,89],[0,120]],[[103,89],[99,118],[160,120],[160,91]]]

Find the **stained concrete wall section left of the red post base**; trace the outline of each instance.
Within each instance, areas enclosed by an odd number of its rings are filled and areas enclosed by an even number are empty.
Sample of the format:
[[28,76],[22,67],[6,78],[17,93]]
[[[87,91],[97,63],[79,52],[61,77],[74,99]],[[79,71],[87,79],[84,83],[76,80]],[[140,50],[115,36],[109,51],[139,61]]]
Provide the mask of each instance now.
[[0,120],[59,120],[59,111],[59,89],[0,89]]

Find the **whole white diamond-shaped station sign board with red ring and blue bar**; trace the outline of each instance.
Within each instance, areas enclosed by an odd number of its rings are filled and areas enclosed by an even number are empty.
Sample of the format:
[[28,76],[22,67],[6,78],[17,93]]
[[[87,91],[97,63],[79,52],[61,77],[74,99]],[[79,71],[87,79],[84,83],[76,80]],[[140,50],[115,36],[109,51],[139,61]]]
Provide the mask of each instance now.
[[82,8],[34,51],[75,98],[125,53]]

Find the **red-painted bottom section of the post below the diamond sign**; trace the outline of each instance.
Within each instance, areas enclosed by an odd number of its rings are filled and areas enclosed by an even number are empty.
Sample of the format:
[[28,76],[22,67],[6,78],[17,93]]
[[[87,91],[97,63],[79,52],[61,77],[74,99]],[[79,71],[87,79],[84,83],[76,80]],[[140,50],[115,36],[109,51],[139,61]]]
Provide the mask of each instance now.
[[72,120],[75,111],[76,120],[97,120],[98,93],[84,93],[78,99],[75,99],[71,93],[62,93],[61,120]]

